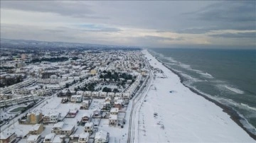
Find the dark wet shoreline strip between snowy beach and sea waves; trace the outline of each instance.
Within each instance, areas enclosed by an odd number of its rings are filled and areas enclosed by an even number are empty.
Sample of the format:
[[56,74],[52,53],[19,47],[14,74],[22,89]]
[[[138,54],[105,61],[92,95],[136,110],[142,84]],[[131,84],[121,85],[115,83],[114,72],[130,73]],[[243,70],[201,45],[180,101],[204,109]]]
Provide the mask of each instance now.
[[[149,51],[148,51],[149,52]],[[149,52],[149,54],[151,55],[151,53]],[[154,57],[153,55],[151,55],[152,57]],[[173,72],[174,74],[176,74],[178,76],[178,78],[180,79],[180,82],[181,84],[183,84],[183,77],[176,71],[174,71],[173,69],[169,68],[166,66],[166,64],[164,64],[163,62],[161,62],[157,57],[154,57],[156,58],[156,60],[158,62],[160,62],[161,64],[164,65],[164,67],[166,67],[167,69],[169,69],[171,72]],[[183,86],[186,86],[186,84],[183,84]],[[218,107],[222,108],[223,109],[223,112],[224,113],[227,113],[228,115],[230,115],[230,118],[238,125],[242,128],[242,130],[245,130],[245,132],[247,132],[248,135],[250,135],[250,137],[252,137],[252,139],[255,139],[256,140],[256,135],[254,135],[252,132],[250,132],[249,130],[247,130],[246,127],[244,127],[242,125],[242,122],[240,122],[240,120],[245,120],[244,118],[240,117],[240,115],[235,111],[233,110],[233,108],[231,107],[228,107],[228,105],[224,105],[222,103],[219,103],[218,101],[215,101],[213,100],[212,98],[209,98],[208,96],[204,95],[203,93],[200,93],[198,91],[196,91],[195,89],[189,87],[189,86],[186,86],[187,88],[189,88],[189,90],[191,90],[193,93],[196,93],[198,94],[199,96],[202,96],[203,98],[205,98],[207,101],[210,101],[212,103],[214,103],[215,105],[218,105]]]

